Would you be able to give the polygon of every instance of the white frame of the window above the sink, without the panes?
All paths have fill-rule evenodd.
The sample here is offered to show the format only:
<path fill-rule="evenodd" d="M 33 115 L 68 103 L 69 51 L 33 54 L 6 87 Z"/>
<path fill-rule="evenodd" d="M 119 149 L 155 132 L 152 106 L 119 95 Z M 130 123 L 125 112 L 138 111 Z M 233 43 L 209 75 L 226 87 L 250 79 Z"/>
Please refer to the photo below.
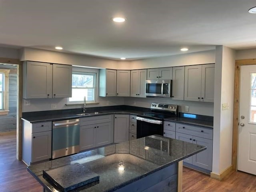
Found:
<path fill-rule="evenodd" d="M 79 66 L 73 66 L 72 67 L 72 74 L 75 73 L 81 73 L 81 74 L 95 74 L 95 90 L 94 90 L 94 101 L 86 101 L 86 104 L 98 104 L 98 74 L 99 70 L 95 68 L 85 68 L 85 67 L 79 67 Z M 67 105 L 73 105 L 73 104 L 83 104 L 83 101 L 69 101 L 69 98 L 67 100 Z"/>

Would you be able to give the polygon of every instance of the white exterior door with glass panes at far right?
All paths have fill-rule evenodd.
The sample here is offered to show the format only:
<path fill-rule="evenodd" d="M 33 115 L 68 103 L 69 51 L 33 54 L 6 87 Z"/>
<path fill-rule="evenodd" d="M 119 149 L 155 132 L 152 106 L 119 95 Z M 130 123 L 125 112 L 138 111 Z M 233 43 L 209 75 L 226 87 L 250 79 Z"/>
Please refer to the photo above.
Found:
<path fill-rule="evenodd" d="M 238 170 L 256 175 L 256 66 L 241 66 Z"/>

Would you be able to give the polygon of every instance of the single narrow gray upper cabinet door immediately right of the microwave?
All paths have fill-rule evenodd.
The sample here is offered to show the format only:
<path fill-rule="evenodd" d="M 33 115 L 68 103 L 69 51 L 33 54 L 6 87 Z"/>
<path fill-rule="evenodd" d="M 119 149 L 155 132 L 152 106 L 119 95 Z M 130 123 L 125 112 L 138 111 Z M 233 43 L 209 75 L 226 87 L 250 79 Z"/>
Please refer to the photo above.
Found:
<path fill-rule="evenodd" d="M 172 68 L 172 99 L 184 100 L 185 67 Z"/>

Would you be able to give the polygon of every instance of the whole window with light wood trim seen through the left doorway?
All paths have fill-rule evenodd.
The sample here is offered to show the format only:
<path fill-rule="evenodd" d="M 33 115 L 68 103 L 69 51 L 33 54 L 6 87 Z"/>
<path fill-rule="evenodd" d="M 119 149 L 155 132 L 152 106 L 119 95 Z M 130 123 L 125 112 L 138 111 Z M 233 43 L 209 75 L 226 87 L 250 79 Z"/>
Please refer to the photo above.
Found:
<path fill-rule="evenodd" d="M 8 114 L 9 72 L 8 69 L 0 69 L 0 115 Z"/>

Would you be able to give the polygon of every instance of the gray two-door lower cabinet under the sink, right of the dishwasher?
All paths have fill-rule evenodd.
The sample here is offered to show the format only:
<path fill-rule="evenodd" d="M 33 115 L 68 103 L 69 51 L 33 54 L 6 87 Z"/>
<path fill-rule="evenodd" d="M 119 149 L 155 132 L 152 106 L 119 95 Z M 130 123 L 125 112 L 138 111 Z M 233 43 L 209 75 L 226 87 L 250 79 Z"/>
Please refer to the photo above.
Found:
<path fill-rule="evenodd" d="M 113 143 L 112 115 L 80 118 L 80 151 L 110 143 Z"/>

